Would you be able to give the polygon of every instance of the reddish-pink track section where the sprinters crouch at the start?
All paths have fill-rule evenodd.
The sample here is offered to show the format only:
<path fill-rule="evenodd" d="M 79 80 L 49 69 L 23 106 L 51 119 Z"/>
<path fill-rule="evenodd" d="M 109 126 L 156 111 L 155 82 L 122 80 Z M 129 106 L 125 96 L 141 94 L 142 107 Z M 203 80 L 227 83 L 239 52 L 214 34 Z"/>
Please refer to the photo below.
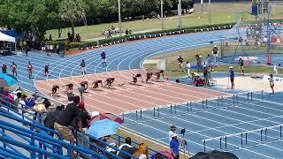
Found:
<path fill-rule="evenodd" d="M 66 103 L 66 95 L 64 95 L 65 84 L 73 83 L 74 94 L 79 95 L 77 87 L 80 81 L 87 80 L 88 84 L 96 79 L 115 78 L 114 87 L 99 88 L 102 91 L 94 91 L 88 89 L 88 93 L 84 94 L 86 108 L 89 111 L 111 112 L 114 114 L 122 114 L 123 112 L 150 109 L 158 106 L 165 106 L 174 103 L 185 103 L 200 101 L 203 99 L 218 98 L 218 96 L 227 95 L 224 93 L 211 91 L 209 89 L 192 87 L 173 83 L 170 81 L 153 82 L 153 84 L 145 84 L 139 80 L 142 86 L 134 86 L 128 84 L 132 80 L 132 72 L 140 72 L 145 79 L 145 72 L 141 70 L 123 71 L 123 72 L 103 72 L 99 74 L 88 75 L 85 78 L 70 77 L 63 79 L 47 79 L 35 81 L 35 86 L 42 92 L 53 98 L 57 102 Z M 120 87 L 119 84 L 125 84 Z M 60 97 L 51 97 L 51 87 L 58 85 L 60 87 Z"/>

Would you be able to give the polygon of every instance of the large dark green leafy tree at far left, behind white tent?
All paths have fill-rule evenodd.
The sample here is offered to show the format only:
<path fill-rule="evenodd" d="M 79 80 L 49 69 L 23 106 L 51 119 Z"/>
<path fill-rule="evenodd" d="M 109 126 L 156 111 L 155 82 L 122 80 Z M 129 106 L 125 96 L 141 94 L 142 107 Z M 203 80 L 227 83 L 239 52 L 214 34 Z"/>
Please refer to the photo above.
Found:
<path fill-rule="evenodd" d="M 27 38 L 42 41 L 57 22 L 59 0 L 4 0 L 0 3 L 0 26 L 26 32 Z M 50 6 L 49 6 L 50 5 Z"/>

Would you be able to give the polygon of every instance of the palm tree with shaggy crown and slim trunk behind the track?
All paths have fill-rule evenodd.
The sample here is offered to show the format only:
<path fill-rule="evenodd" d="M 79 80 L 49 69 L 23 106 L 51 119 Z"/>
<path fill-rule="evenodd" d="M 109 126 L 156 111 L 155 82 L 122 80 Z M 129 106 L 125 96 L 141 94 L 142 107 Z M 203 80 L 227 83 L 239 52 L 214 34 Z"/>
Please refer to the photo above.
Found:
<path fill-rule="evenodd" d="M 74 39 L 74 23 L 85 18 L 86 4 L 82 0 L 63 0 L 59 4 L 59 18 L 72 24 Z"/>

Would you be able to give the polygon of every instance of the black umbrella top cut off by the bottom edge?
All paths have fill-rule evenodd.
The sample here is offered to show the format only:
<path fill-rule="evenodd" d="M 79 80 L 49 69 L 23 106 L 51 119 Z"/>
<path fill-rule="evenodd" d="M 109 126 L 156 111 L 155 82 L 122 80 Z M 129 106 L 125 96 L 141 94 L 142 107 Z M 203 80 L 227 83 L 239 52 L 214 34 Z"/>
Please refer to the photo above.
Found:
<path fill-rule="evenodd" d="M 211 151 L 208 153 L 199 152 L 191 159 L 239 159 L 236 155 L 228 152 Z"/>

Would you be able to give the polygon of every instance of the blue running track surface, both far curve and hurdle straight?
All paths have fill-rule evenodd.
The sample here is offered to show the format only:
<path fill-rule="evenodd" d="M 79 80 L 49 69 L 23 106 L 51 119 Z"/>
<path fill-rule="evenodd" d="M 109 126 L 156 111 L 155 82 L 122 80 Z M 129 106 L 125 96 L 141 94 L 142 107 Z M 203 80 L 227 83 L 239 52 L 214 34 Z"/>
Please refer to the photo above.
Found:
<path fill-rule="evenodd" d="M 87 63 L 88 74 L 140 69 L 142 68 L 142 61 L 147 57 L 210 45 L 210 41 L 219 42 L 220 40 L 218 37 L 220 36 L 234 37 L 235 32 L 233 30 L 226 30 L 203 34 L 186 34 L 164 37 L 152 41 L 125 43 L 113 46 L 111 48 L 105 48 L 108 57 L 108 66 L 106 68 L 102 67 L 101 64 L 99 55 L 101 50 L 91 51 L 86 54 L 65 58 L 46 57 L 42 54 L 31 53 L 28 57 L 0 57 L 0 61 L 2 64 L 5 63 L 7 65 L 10 65 L 13 61 L 16 62 L 16 64 L 19 66 L 19 86 L 34 92 L 37 90 L 37 88 L 34 87 L 34 81 L 46 79 L 43 77 L 44 64 L 50 64 L 50 73 L 52 75 L 50 76 L 50 79 L 64 79 L 70 77 L 75 78 L 76 76 L 80 76 L 81 59 L 85 59 Z M 34 79 L 27 79 L 28 60 L 32 61 L 34 64 Z M 218 135 L 223 135 L 224 133 L 239 133 L 239 131 L 243 130 L 252 130 L 265 125 L 278 125 L 282 123 L 282 117 L 279 117 L 282 115 L 280 114 L 281 111 L 279 108 L 282 105 L 278 103 L 273 103 L 274 105 L 271 103 L 269 104 L 272 107 L 271 109 L 266 107 L 266 103 L 265 105 L 253 104 L 256 107 L 253 107 L 252 109 L 268 109 L 266 112 L 264 112 L 265 110 L 252 110 L 249 108 L 249 104 L 242 104 L 242 106 L 245 106 L 245 109 L 235 107 L 239 110 L 221 109 L 221 111 L 208 111 L 207 113 L 203 114 L 200 113 L 190 115 L 190 118 L 186 116 L 180 116 L 169 119 L 168 117 L 165 117 L 164 119 L 159 118 L 157 120 L 152 120 L 152 118 L 149 117 L 152 117 L 152 111 L 149 110 L 149 114 L 147 114 L 147 111 L 142 112 L 142 119 L 147 119 L 147 117 L 149 117 L 147 123 L 142 123 L 139 124 L 139 126 L 136 126 L 137 124 L 133 124 L 133 122 L 135 122 L 133 119 L 135 117 L 135 113 L 132 113 L 126 115 L 125 127 L 166 144 L 168 127 L 170 125 L 177 125 L 178 128 L 182 128 L 185 125 L 187 129 L 190 129 L 189 134 L 195 134 L 193 138 L 191 138 L 192 136 L 186 135 L 186 139 L 190 141 L 189 149 L 193 153 L 196 153 L 197 151 L 203 150 L 201 142 L 203 139 L 216 137 Z M 184 107 L 177 107 L 176 112 L 183 112 L 184 110 L 179 110 L 181 108 Z M 166 108 L 164 108 L 164 110 L 166 110 Z M 161 116 L 164 116 L 164 114 L 164 111 L 160 112 Z M 149 119 L 151 122 L 149 122 Z M 245 120 L 248 122 L 244 122 Z M 261 122 L 262 120 L 267 123 L 253 123 Z M 237 123 L 239 125 L 242 124 L 242 127 L 235 127 L 234 125 L 237 125 Z M 249 125 L 246 125 L 247 123 Z M 233 131 L 231 131 L 231 126 L 234 128 Z M 200 127 L 203 128 L 203 130 L 197 130 L 197 128 Z M 218 129 L 222 130 L 219 131 Z M 210 132 L 206 132 L 206 130 Z M 212 146 L 209 146 L 208 150 L 211 148 Z M 240 151 L 236 151 L 236 154 L 240 155 L 241 158 L 278 158 L 277 156 L 282 154 L 282 148 L 278 144 L 271 146 L 262 144 L 260 147 L 249 149 L 244 148 Z"/>

